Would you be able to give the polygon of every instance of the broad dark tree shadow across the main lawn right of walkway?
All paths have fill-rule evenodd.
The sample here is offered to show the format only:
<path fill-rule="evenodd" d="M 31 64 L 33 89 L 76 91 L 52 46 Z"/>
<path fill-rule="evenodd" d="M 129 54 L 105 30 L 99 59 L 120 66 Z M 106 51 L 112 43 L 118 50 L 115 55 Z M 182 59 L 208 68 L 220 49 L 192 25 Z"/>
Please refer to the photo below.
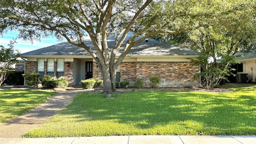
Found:
<path fill-rule="evenodd" d="M 158 131 L 155 134 L 256 134 L 255 97 L 230 95 L 144 91 L 106 99 L 82 93 L 60 114 L 75 114 L 79 122 L 115 120 L 139 130 Z"/>

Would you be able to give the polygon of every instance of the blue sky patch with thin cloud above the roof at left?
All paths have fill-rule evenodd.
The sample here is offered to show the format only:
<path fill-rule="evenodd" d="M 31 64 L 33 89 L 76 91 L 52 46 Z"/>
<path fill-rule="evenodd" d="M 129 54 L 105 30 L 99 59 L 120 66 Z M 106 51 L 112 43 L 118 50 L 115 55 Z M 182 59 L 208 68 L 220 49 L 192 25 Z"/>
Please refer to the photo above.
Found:
<path fill-rule="evenodd" d="M 8 48 L 8 44 L 10 43 L 10 40 L 12 40 L 12 38 L 16 38 L 17 35 L 18 35 L 17 31 L 8 31 L 3 36 L 0 36 L 0 45 L 4 46 L 5 48 Z M 21 54 L 60 43 L 60 41 L 58 41 L 54 37 L 41 38 L 40 42 L 34 41 L 33 44 L 31 44 L 31 42 L 26 42 L 22 39 L 18 39 L 16 40 L 16 42 L 17 43 L 14 44 L 14 49 L 19 50 Z"/>

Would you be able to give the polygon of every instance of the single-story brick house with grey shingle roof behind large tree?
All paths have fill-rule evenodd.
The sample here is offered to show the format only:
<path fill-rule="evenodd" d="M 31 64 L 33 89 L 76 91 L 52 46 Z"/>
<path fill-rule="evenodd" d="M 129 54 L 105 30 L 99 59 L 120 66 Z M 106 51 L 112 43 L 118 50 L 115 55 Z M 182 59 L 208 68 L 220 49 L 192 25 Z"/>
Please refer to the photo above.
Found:
<path fill-rule="evenodd" d="M 89 37 L 86 37 L 84 43 L 94 48 Z M 108 46 L 111 48 L 114 44 L 115 37 L 108 37 Z M 124 44 L 120 52 L 123 49 Z M 199 86 L 200 81 L 194 80 L 194 75 L 200 72 L 200 68 L 188 59 L 198 58 L 198 55 L 193 50 L 148 38 L 133 46 L 124 58 L 118 67 L 116 81 L 127 79 L 130 80 L 130 86 L 134 86 L 136 79 L 143 78 L 144 86 L 148 87 L 149 77 L 159 76 L 160 87 Z M 57 78 L 64 76 L 70 85 L 79 85 L 84 79 L 101 77 L 92 56 L 83 48 L 68 42 L 26 52 L 21 56 L 27 58 L 26 72 L 39 72 L 41 76 L 50 74 Z"/>

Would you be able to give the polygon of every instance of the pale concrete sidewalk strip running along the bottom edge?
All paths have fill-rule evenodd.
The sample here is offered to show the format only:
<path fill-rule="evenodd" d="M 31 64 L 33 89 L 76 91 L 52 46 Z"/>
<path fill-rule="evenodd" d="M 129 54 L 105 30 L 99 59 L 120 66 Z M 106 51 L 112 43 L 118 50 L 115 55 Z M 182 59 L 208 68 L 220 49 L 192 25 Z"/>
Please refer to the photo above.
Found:
<path fill-rule="evenodd" d="M 256 144 L 256 136 L 99 136 L 0 138 L 0 144 Z"/>

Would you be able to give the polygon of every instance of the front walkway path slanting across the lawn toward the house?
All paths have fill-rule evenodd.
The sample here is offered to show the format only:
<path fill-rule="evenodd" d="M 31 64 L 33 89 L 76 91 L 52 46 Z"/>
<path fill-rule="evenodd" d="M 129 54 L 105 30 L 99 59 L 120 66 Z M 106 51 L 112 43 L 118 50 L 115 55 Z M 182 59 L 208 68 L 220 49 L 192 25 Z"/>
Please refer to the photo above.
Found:
<path fill-rule="evenodd" d="M 72 102 L 79 90 L 66 90 L 51 96 L 36 108 L 18 116 L 8 123 L 0 124 L 0 138 L 21 138 L 26 132 L 38 128 L 46 120 L 57 114 L 62 108 Z"/>

